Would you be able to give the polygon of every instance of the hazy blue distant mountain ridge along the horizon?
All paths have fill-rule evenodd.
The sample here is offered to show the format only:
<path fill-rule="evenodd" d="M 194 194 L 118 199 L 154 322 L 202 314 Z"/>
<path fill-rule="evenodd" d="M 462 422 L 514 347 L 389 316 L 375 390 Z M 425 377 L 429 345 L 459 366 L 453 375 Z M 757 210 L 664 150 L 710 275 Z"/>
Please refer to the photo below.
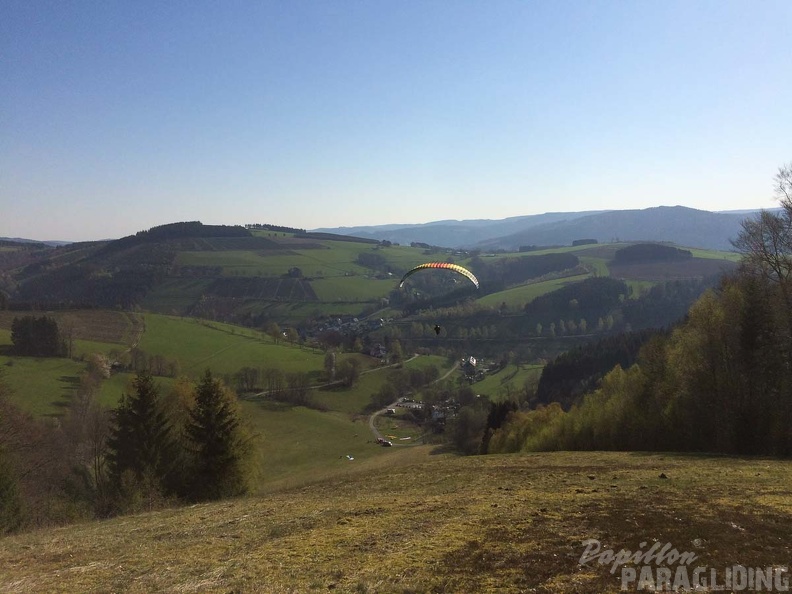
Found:
<path fill-rule="evenodd" d="M 685 206 L 635 210 L 546 213 L 502 220 L 433 221 L 418 225 L 382 225 L 321 229 L 380 241 L 428 243 L 449 248 L 517 250 L 521 246 L 571 245 L 597 241 L 666 241 L 686 247 L 730 250 L 742 221 L 754 211 L 711 212 Z"/>

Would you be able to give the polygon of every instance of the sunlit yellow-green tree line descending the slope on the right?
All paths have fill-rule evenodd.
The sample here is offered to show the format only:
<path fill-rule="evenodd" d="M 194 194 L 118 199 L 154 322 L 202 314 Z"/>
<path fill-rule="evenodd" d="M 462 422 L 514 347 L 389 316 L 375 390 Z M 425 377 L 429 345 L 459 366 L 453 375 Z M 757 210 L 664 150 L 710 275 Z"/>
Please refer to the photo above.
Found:
<path fill-rule="evenodd" d="M 738 271 L 704 293 L 637 362 L 617 365 L 569 411 L 515 411 L 489 452 L 671 450 L 792 455 L 792 164 L 781 209 L 743 222 Z"/>

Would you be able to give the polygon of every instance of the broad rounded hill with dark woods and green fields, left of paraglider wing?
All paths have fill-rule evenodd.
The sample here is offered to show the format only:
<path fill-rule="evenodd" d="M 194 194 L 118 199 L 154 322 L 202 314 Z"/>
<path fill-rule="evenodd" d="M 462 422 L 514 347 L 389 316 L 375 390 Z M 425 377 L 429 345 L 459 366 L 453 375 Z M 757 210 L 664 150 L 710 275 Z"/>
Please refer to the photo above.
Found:
<path fill-rule="evenodd" d="M 248 325 L 359 315 L 424 258 L 383 247 L 382 266 L 361 263 L 377 250 L 372 240 L 200 223 L 57 248 L 11 244 L 0 251 L 0 298 L 18 309 L 140 307 Z"/>

